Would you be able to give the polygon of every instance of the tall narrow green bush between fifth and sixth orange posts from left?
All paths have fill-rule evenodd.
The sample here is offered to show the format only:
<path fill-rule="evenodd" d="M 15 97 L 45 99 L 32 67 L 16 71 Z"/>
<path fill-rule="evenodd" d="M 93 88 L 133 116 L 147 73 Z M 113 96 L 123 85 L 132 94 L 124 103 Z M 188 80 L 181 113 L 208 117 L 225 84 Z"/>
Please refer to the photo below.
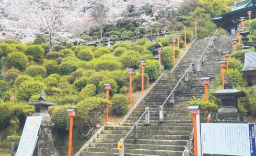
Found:
<path fill-rule="evenodd" d="M 173 48 L 172 47 L 162 48 L 161 59 L 162 59 L 162 63 L 164 64 L 165 68 L 171 69 L 174 66 Z"/>

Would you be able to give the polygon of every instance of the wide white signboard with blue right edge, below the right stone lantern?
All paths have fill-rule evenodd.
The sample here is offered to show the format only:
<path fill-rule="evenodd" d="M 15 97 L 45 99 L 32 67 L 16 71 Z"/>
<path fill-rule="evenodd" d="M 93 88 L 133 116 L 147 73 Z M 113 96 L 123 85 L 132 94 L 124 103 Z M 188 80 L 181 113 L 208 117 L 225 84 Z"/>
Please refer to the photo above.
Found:
<path fill-rule="evenodd" d="M 202 123 L 203 154 L 256 155 L 255 125 Z"/>

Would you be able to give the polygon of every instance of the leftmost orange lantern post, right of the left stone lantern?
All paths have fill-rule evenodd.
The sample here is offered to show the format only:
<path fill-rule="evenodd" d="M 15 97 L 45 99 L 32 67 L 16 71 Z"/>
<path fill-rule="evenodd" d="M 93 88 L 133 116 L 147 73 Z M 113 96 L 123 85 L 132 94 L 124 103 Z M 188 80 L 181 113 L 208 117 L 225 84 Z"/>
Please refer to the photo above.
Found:
<path fill-rule="evenodd" d="M 76 109 L 69 108 L 67 110 L 68 116 L 70 117 L 69 121 L 69 137 L 68 137 L 68 152 L 67 155 L 71 156 L 72 151 L 72 133 L 73 133 L 73 117 L 76 116 Z"/>

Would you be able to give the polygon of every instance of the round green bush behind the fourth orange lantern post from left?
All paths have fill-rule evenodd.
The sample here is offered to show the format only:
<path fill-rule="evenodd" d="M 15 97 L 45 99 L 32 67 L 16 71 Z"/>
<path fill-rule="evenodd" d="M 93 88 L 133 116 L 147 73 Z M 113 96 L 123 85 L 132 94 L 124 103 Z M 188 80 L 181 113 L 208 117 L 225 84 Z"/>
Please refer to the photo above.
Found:
<path fill-rule="evenodd" d="M 134 91 L 142 89 L 142 74 L 141 73 L 136 73 L 136 75 L 133 76 L 132 85 L 133 85 Z M 148 85 L 149 85 L 149 77 L 147 74 L 144 74 L 144 89 L 146 89 Z"/>

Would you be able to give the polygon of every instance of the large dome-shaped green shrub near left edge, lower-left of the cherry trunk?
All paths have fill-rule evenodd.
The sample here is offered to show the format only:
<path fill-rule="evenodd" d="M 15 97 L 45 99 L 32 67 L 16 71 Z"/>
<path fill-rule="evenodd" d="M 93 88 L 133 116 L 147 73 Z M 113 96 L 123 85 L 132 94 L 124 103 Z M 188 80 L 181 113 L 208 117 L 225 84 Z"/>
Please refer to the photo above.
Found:
<path fill-rule="evenodd" d="M 25 70 L 28 66 L 28 58 L 24 53 L 16 51 L 8 55 L 6 64 L 8 68 L 15 67 L 18 70 Z"/>

